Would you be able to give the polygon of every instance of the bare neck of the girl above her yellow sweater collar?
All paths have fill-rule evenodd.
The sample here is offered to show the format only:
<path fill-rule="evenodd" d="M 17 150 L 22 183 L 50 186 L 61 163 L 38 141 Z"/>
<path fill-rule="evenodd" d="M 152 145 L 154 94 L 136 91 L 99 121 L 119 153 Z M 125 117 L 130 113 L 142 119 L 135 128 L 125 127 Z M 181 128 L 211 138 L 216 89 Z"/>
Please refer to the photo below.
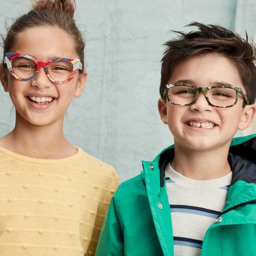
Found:
<path fill-rule="evenodd" d="M 20 155 L 41 159 L 61 159 L 76 154 L 77 149 L 64 137 L 62 125 L 25 126 L 16 123 L 14 130 L 0 139 L 0 146 Z"/>

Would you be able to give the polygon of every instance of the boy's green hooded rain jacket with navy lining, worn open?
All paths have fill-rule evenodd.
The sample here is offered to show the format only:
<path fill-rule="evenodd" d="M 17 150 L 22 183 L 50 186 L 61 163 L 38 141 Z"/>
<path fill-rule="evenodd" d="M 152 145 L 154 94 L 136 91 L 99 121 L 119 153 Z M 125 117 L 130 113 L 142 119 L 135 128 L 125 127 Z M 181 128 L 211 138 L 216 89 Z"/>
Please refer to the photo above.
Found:
<path fill-rule="evenodd" d="M 121 183 L 102 226 L 96 256 L 173 256 L 164 179 L 173 156 L 170 146 L 153 161 L 142 161 L 139 176 Z M 227 201 L 205 234 L 201 255 L 255 256 L 256 134 L 233 139 L 228 161 L 233 178 Z"/>

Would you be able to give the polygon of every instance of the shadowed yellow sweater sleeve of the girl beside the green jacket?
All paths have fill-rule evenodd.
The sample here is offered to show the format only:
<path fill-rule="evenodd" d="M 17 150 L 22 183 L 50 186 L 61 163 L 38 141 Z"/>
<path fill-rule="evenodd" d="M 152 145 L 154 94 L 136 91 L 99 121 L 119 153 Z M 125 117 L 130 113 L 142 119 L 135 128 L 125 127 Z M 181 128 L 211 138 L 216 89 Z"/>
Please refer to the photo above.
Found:
<path fill-rule="evenodd" d="M 118 187 L 118 175 L 112 166 L 107 166 L 105 175 L 101 180 L 101 194 L 98 201 L 97 215 L 95 226 L 92 233 L 92 239 L 85 255 L 94 255 L 101 227 L 109 208 L 111 198 Z"/>

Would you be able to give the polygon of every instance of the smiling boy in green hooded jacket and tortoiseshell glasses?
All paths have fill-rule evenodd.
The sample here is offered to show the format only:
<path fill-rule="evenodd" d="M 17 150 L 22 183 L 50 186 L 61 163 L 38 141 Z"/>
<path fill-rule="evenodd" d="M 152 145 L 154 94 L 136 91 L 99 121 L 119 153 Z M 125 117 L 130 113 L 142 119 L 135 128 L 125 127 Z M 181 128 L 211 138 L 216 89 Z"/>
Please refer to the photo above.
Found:
<path fill-rule="evenodd" d="M 158 110 L 174 146 L 120 185 L 96 256 L 256 255 L 256 135 L 231 142 L 255 115 L 255 48 L 189 26 L 162 59 Z"/>

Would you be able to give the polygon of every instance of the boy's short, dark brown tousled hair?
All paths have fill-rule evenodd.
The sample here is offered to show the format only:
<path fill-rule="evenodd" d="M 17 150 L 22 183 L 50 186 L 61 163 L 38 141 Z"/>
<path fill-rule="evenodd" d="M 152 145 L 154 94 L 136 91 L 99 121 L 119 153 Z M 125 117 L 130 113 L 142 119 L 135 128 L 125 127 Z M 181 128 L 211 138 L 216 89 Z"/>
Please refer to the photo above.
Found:
<path fill-rule="evenodd" d="M 217 25 L 205 25 L 193 22 L 187 26 L 197 26 L 198 31 L 180 34 L 178 39 L 164 43 L 165 51 L 162 58 L 160 95 L 163 98 L 164 87 L 172 76 L 175 65 L 193 56 L 218 53 L 226 57 L 237 68 L 250 104 L 256 98 L 256 49 L 254 44 L 242 39 L 237 33 Z M 236 86 L 236 85 L 234 85 Z"/>

